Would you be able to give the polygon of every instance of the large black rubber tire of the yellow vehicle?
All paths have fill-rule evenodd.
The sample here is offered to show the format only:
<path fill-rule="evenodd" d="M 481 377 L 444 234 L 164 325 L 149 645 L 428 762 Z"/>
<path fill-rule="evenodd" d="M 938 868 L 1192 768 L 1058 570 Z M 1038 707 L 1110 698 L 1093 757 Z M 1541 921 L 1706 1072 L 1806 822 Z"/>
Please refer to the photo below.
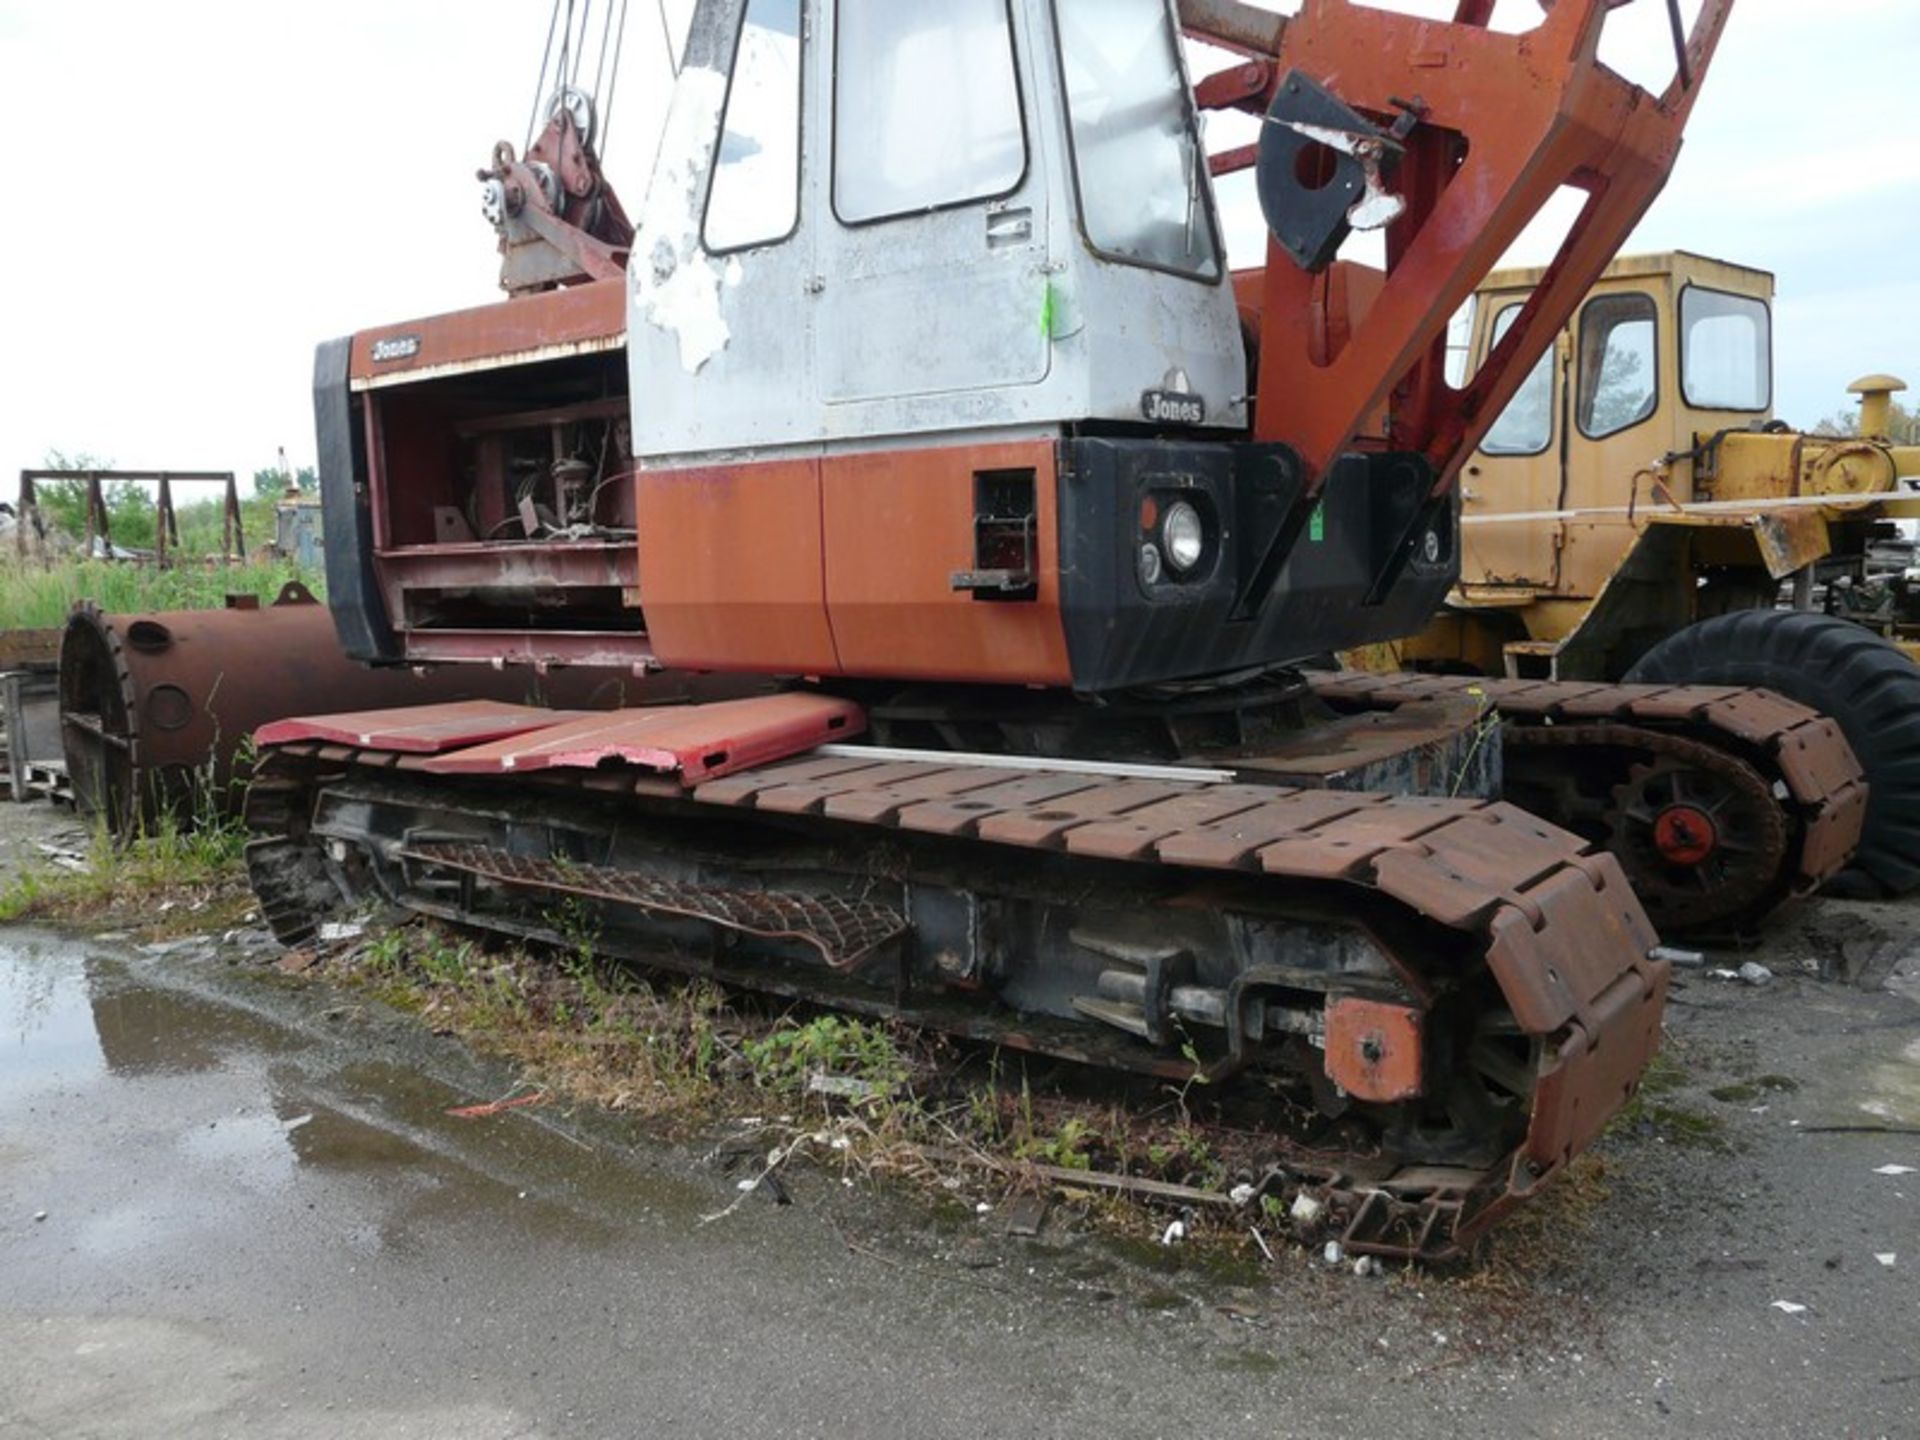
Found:
<path fill-rule="evenodd" d="M 1870 630 L 1805 611 L 1740 611 L 1674 632 L 1624 676 L 1759 685 L 1832 716 L 1866 772 L 1866 829 L 1830 889 L 1920 889 L 1920 666 Z"/>

